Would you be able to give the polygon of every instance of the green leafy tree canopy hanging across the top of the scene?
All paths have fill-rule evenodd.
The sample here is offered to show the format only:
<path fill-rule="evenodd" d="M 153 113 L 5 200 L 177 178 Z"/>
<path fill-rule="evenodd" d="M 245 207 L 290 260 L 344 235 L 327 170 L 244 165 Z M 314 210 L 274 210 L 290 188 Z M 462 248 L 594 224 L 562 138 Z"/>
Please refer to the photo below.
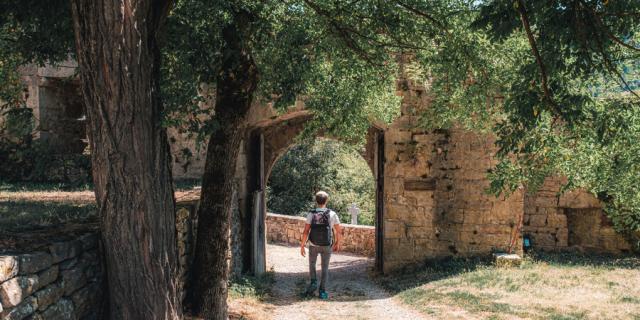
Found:
<path fill-rule="evenodd" d="M 166 124 L 201 138 L 224 127 L 203 84 L 219 74 L 222 30 L 238 23 L 259 74 L 256 99 L 303 100 L 319 130 L 349 142 L 398 113 L 398 67 L 430 88 L 425 127 L 492 130 L 491 191 L 568 178 L 640 232 L 637 0 L 175 1 L 161 70 Z M 0 99 L 21 107 L 17 66 L 72 51 L 69 2 L 0 4 Z M 398 61 L 406 62 L 399 66 Z"/>

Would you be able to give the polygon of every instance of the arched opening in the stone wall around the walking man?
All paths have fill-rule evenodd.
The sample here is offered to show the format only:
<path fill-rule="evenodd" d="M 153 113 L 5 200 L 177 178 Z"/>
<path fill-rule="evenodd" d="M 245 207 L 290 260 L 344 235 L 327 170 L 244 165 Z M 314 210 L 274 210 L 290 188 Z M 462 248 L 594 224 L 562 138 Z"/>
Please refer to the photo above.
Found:
<path fill-rule="evenodd" d="M 366 277 L 375 260 L 376 180 L 362 154 L 363 147 L 316 138 L 292 144 L 268 168 L 265 259 L 280 284 L 273 289 L 275 296 L 297 296 L 308 289 L 312 257 L 313 278 L 333 297 L 347 297 L 355 285 L 366 282 L 360 277 Z M 327 207 L 339 217 L 341 248 L 327 256 L 313 255 L 308 246 L 303 257 L 300 239 L 320 190 L 329 194 Z M 326 258 L 329 274 L 323 283 Z"/>

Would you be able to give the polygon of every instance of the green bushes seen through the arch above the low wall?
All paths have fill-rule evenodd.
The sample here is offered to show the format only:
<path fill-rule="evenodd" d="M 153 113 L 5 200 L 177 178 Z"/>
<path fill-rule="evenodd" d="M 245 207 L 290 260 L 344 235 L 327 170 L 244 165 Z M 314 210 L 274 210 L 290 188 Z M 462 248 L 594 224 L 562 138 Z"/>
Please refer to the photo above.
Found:
<path fill-rule="evenodd" d="M 333 140 L 303 142 L 276 162 L 268 182 L 270 212 L 306 215 L 315 207 L 314 194 L 329 193 L 329 207 L 349 223 L 347 209 L 355 203 L 358 222 L 375 223 L 375 181 L 371 169 L 353 147 Z"/>

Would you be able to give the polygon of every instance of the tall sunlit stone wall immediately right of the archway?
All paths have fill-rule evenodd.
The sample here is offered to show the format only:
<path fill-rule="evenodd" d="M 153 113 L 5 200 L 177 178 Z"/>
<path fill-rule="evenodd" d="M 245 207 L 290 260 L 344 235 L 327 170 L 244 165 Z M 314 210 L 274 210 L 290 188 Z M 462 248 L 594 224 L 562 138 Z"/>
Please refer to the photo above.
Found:
<path fill-rule="evenodd" d="M 410 82 L 399 87 L 401 116 L 385 131 L 384 271 L 506 250 L 523 214 L 523 195 L 486 193 L 486 174 L 495 164 L 493 137 L 420 129 L 417 115 L 430 98 Z"/>

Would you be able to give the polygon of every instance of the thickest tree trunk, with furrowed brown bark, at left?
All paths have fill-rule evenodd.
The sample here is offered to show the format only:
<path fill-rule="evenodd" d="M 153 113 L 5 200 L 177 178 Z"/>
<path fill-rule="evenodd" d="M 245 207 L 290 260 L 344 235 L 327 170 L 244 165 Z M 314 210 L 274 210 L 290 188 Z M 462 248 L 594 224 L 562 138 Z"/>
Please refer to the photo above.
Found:
<path fill-rule="evenodd" d="M 71 0 L 111 319 L 179 319 L 157 30 L 169 0 Z"/>

